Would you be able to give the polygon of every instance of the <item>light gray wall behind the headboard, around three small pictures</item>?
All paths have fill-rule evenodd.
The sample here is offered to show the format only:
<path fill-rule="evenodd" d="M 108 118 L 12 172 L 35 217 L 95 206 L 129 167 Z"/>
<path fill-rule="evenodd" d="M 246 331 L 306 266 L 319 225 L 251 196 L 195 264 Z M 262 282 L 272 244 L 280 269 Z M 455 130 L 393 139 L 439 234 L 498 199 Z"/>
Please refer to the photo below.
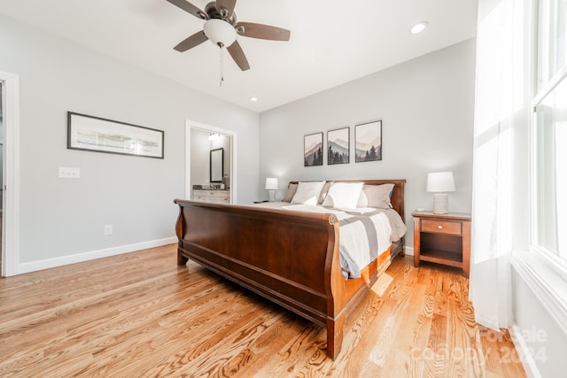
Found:
<path fill-rule="evenodd" d="M 470 212 L 475 40 L 438 50 L 260 114 L 260 193 L 278 177 L 282 198 L 292 180 L 406 179 L 406 245 L 411 212 L 432 208 L 427 174 L 453 171 L 452 212 Z M 354 125 L 382 120 L 382 161 L 354 163 Z M 303 166 L 303 137 L 351 127 L 351 163 Z M 411 251 L 409 251 L 411 252 Z"/>

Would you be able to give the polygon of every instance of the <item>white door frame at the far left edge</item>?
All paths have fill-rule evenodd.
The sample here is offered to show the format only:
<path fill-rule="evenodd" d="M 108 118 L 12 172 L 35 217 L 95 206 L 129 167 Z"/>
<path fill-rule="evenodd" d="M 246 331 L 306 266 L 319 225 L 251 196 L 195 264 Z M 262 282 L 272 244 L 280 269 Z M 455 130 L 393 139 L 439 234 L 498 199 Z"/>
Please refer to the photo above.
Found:
<path fill-rule="evenodd" d="M 0 71 L 4 111 L 2 272 L 19 274 L 19 76 Z"/>

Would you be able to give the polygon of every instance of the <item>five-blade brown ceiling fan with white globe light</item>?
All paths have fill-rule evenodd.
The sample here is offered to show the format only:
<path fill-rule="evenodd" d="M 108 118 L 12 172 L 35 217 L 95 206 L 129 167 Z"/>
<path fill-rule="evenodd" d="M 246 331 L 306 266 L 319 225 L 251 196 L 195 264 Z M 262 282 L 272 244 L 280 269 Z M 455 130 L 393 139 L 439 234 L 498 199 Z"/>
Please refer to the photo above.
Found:
<path fill-rule="evenodd" d="M 206 4 L 205 11 L 185 0 L 167 0 L 169 3 L 183 9 L 198 19 L 204 19 L 203 30 L 190 35 L 179 42 L 174 49 L 180 52 L 192 49 L 195 46 L 210 40 L 221 49 L 226 47 L 230 56 L 242 71 L 250 69 L 245 53 L 237 41 L 237 35 L 251 38 L 260 38 L 270 41 L 289 41 L 290 31 L 269 25 L 252 22 L 237 22 L 234 7 L 237 0 L 216 0 Z"/>

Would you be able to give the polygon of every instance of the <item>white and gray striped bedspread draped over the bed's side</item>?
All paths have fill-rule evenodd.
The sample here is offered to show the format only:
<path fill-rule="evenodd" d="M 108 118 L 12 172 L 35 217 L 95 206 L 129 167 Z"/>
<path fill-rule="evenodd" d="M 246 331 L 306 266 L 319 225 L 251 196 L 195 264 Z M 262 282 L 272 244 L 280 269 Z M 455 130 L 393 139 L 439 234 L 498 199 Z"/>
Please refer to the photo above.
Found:
<path fill-rule="evenodd" d="M 400 215 L 393 209 L 334 209 L 315 204 L 268 202 L 262 207 L 295 212 L 333 213 L 338 218 L 340 262 L 345 278 L 359 278 L 361 269 L 384 253 L 406 233 Z"/>

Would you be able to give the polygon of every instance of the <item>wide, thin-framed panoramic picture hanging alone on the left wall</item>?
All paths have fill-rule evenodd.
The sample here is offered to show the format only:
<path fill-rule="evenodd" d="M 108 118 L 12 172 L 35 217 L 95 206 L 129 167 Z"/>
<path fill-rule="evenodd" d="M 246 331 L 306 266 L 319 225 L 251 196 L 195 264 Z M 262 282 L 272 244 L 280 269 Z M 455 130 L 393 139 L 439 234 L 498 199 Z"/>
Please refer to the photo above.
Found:
<path fill-rule="evenodd" d="M 67 112 L 67 149 L 163 158 L 164 132 Z"/>

